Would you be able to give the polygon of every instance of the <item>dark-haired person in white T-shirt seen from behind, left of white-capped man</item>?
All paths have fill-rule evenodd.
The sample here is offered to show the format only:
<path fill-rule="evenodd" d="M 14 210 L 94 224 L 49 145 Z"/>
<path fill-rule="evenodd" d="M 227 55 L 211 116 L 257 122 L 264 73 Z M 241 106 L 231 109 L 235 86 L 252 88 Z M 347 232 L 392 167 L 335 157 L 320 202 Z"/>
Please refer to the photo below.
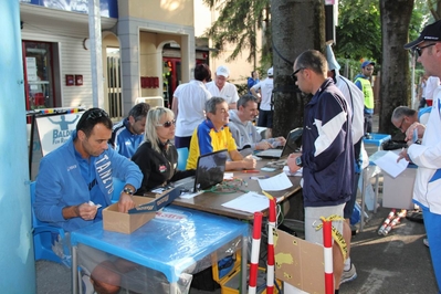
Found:
<path fill-rule="evenodd" d="M 211 98 L 206 83 L 211 80 L 211 71 L 207 64 L 197 64 L 195 80 L 179 85 L 174 93 L 171 109 L 176 117 L 176 148 L 189 148 L 191 134 L 206 119 L 203 107 Z"/>

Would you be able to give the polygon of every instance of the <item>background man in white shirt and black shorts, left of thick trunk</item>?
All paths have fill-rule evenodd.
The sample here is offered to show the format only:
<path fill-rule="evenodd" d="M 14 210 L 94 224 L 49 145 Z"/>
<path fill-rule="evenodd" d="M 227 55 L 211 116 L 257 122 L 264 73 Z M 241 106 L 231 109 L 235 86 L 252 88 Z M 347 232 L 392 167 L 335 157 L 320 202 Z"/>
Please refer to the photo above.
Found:
<path fill-rule="evenodd" d="M 273 94 L 274 80 L 273 80 L 273 67 L 267 70 L 267 77 L 259 84 L 251 87 L 250 92 L 261 103 L 259 112 L 258 126 L 266 127 L 266 138 L 271 138 L 273 133 L 273 109 L 271 105 L 271 96 Z M 260 90 L 260 94 L 258 91 Z"/>

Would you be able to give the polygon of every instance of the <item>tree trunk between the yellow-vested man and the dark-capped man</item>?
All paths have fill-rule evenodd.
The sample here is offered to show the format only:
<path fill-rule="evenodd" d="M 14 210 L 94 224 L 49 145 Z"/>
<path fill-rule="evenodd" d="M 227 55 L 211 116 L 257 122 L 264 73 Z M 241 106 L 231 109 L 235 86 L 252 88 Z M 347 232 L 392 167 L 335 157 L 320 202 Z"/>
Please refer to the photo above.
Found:
<path fill-rule="evenodd" d="M 379 133 L 395 134 L 390 123 L 393 109 L 410 106 L 411 82 L 409 75 L 409 51 L 402 46 L 408 42 L 408 30 L 413 0 L 380 0 L 381 15 L 381 76 Z"/>

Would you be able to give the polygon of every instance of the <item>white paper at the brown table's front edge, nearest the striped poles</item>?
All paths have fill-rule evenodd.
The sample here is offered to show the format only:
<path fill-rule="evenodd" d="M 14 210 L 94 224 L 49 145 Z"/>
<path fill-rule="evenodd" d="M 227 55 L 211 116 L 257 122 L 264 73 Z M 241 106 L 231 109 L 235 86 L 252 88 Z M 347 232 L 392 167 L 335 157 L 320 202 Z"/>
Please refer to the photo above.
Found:
<path fill-rule="evenodd" d="M 277 202 L 279 201 L 280 199 L 277 199 Z M 263 195 L 251 191 L 223 203 L 222 207 L 254 213 L 267 209 L 270 207 L 270 199 Z"/>

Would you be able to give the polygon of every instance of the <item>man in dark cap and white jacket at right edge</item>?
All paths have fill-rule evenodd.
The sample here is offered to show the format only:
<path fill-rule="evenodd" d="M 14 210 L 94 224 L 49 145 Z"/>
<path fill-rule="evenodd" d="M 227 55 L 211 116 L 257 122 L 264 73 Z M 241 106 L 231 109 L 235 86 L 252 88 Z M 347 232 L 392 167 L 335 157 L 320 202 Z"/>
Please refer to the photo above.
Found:
<path fill-rule="evenodd" d="M 405 45 L 418 54 L 417 61 L 428 76 L 441 77 L 441 21 L 426 25 L 419 38 Z M 413 186 L 413 202 L 422 210 L 430 255 L 438 290 L 441 291 L 441 93 L 435 92 L 429 120 L 424 126 L 413 123 L 407 132 L 409 148 L 397 161 L 406 158 L 418 166 Z M 413 130 L 418 138 L 414 140 Z M 420 141 L 420 138 L 422 140 Z"/>

